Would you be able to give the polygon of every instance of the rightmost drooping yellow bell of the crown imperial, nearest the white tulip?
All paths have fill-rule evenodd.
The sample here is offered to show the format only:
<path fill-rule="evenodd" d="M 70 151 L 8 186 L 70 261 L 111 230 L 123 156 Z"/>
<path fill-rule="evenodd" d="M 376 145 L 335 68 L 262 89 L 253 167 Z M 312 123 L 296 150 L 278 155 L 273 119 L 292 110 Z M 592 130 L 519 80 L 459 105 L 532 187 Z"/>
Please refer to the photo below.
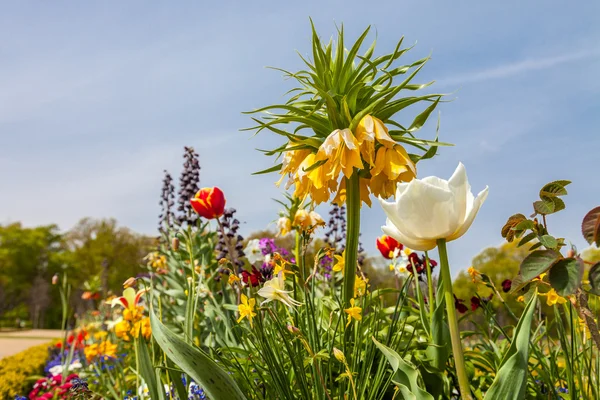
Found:
<path fill-rule="evenodd" d="M 388 198 L 395 195 L 399 182 L 409 182 L 416 176 L 415 164 L 404 147 L 399 144 L 392 148 L 381 146 L 371 169 L 371 192 L 377 197 Z"/>

